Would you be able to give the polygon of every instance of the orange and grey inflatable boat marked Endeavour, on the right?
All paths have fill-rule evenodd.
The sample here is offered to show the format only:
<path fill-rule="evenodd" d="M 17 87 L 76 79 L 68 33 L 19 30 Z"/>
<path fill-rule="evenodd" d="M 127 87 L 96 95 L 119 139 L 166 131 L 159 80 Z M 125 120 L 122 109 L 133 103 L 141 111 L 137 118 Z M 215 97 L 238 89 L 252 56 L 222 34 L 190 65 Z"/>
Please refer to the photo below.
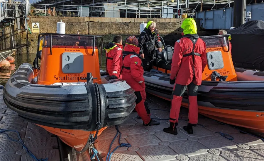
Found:
<path fill-rule="evenodd" d="M 264 72 L 234 68 L 228 35 L 200 38 L 207 45 L 208 64 L 198 89 L 199 113 L 264 132 Z M 165 46 L 164 51 L 155 53 L 155 69 L 144 72 L 146 91 L 169 101 L 173 91 L 173 85 L 169 83 L 172 54 L 172 46 Z M 222 76 L 227 76 L 225 81 L 220 81 Z M 182 106 L 188 108 L 187 91 Z"/>

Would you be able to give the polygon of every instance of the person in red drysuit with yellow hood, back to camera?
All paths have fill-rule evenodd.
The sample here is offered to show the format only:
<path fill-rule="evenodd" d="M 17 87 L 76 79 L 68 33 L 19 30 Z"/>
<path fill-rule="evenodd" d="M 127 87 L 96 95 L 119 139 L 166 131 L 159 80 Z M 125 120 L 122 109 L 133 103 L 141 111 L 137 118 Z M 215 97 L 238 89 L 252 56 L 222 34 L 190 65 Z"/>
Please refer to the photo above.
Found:
<path fill-rule="evenodd" d="M 207 64 L 206 44 L 197 35 L 197 27 L 193 18 L 185 19 L 181 27 L 184 36 L 175 42 L 170 71 L 170 84 L 175 84 L 170 109 L 170 127 L 163 129 L 175 135 L 182 97 L 187 88 L 189 123 L 183 129 L 193 134 L 192 126 L 198 123 L 197 91 L 198 86 L 202 84 L 202 72 Z"/>

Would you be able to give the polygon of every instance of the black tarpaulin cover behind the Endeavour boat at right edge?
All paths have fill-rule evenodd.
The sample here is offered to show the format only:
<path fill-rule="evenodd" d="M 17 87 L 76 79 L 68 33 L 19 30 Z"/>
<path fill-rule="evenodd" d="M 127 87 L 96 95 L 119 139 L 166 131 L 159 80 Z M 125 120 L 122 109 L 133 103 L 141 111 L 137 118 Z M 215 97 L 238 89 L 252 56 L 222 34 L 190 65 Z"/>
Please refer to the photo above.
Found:
<path fill-rule="evenodd" d="M 235 67 L 264 70 L 264 21 L 248 21 L 232 30 L 232 60 Z"/>

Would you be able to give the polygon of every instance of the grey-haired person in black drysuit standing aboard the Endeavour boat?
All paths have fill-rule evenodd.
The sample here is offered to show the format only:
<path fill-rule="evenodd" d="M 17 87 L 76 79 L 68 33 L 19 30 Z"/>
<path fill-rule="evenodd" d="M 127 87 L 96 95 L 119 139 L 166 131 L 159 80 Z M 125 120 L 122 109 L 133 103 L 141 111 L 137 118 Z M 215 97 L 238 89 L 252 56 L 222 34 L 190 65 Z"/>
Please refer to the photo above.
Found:
<path fill-rule="evenodd" d="M 159 43 L 156 34 L 153 34 L 156 23 L 149 21 L 145 29 L 141 32 L 138 38 L 139 54 L 142 58 L 143 69 L 150 72 L 153 67 L 153 54 L 155 52 L 155 45 L 158 51 L 162 51 L 162 45 Z"/>

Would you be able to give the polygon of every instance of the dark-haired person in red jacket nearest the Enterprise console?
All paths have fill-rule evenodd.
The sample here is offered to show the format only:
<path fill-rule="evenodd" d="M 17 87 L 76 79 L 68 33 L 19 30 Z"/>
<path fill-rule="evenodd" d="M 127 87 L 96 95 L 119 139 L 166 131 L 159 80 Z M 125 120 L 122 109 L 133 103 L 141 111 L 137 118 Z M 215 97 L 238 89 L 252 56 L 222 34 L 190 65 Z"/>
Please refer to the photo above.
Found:
<path fill-rule="evenodd" d="M 120 59 L 122 58 L 122 36 L 117 35 L 114 37 L 113 42 L 110 42 L 107 47 L 104 48 L 106 51 L 106 72 L 103 75 L 109 75 L 109 79 L 121 79 L 120 75 Z"/>

